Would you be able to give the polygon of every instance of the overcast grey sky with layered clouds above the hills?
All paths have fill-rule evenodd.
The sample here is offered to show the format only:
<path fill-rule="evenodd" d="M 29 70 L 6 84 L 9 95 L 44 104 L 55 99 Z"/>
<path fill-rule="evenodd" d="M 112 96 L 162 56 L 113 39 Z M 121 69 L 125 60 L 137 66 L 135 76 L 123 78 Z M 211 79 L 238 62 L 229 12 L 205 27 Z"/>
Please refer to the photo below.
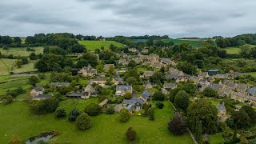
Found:
<path fill-rule="evenodd" d="M 255 0 L 0 0 L 0 35 L 170 38 L 256 33 Z"/>

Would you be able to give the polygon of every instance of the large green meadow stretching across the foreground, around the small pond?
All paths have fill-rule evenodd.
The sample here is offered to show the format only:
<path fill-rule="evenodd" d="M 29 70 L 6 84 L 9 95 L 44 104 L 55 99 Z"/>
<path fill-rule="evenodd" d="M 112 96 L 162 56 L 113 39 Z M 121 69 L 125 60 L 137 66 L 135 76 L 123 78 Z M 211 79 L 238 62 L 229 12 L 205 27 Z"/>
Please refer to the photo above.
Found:
<path fill-rule="evenodd" d="M 65 110 L 83 107 L 97 98 L 89 100 L 66 100 L 60 105 Z M 155 110 L 155 121 L 141 116 L 132 116 L 128 122 L 118 121 L 118 114 L 100 114 L 92 117 L 93 126 L 86 131 L 77 130 L 74 123 L 67 118 L 56 119 L 54 114 L 41 116 L 31 115 L 26 102 L 13 102 L 10 105 L 0 104 L 0 142 L 7 143 L 12 135 L 18 135 L 22 140 L 37 135 L 43 131 L 57 130 L 59 135 L 49 143 L 127 143 L 125 138 L 129 126 L 137 131 L 136 143 L 193 143 L 189 134 L 174 136 L 166 129 L 173 109 L 165 102 L 163 110 Z M 6 136 L 5 136 L 6 134 Z"/>

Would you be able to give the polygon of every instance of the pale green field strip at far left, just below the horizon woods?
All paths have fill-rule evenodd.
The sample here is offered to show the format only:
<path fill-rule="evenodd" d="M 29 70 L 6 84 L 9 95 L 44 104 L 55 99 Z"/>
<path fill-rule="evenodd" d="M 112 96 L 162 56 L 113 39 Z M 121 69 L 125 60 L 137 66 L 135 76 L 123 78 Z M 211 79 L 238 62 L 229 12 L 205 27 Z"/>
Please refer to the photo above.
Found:
<path fill-rule="evenodd" d="M 35 54 L 42 54 L 43 53 L 43 48 L 42 46 L 39 46 L 39 47 L 32 47 L 35 51 L 26 51 L 26 47 L 18 47 L 18 48 L 13 48 L 13 47 L 10 47 L 10 50 L 3 50 L 3 48 L 0 48 L 0 52 L 2 54 L 6 54 L 6 55 L 9 55 L 9 54 L 14 54 L 14 56 L 18 56 L 18 55 L 21 55 L 21 56 L 24 56 L 24 57 L 29 57 L 31 53 L 35 53 Z"/>

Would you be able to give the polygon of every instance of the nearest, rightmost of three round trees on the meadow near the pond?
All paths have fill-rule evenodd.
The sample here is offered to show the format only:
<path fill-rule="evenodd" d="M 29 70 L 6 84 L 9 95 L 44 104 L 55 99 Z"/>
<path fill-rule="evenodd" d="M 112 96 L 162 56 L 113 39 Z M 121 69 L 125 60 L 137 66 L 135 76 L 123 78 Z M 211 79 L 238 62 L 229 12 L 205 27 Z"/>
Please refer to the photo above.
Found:
<path fill-rule="evenodd" d="M 78 127 L 79 130 L 89 129 L 92 126 L 90 116 L 86 113 L 80 114 L 75 121 L 75 125 Z"/>

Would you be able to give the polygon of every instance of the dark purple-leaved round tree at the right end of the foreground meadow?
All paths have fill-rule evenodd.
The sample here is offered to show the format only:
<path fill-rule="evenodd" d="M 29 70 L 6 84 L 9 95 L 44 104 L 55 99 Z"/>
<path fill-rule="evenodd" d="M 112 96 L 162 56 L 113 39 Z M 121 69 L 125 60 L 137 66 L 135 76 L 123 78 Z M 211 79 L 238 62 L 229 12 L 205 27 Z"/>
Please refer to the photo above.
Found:
<path fill-rule="evenodd" d="M 186 123 L 181 116 L 175 115 L 168 123 L 168 130 L 176 135 L 184 134 L 186 132 Z"/>

